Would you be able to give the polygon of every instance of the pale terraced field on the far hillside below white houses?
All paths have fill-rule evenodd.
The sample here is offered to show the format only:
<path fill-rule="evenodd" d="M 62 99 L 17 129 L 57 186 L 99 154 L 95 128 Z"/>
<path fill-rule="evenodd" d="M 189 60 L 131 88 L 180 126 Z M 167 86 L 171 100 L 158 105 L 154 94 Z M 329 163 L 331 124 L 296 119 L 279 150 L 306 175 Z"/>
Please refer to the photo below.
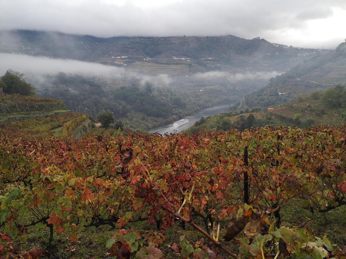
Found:
<path fill-rule="evenodd" d="M 179 75 L 187 73 L 189 68 L 187 65 L 161 65 L 146 62 L 136 62 L 128 66 L 128 69 L 133 72 L 147 74 L 169 74 Z"/>

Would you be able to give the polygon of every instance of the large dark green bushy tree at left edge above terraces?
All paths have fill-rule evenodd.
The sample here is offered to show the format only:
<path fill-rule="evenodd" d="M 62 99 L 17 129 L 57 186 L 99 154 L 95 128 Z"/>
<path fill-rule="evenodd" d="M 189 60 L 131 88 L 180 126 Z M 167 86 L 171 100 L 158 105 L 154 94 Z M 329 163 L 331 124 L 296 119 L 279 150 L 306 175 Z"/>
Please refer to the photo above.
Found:
<path fill-rule="evenodd" d="M 11 69 L 0 78 L 6 85 L 3 89 L 7 94 L 35 95 L 36 89 L 24 80 L 24 74 Z"/>

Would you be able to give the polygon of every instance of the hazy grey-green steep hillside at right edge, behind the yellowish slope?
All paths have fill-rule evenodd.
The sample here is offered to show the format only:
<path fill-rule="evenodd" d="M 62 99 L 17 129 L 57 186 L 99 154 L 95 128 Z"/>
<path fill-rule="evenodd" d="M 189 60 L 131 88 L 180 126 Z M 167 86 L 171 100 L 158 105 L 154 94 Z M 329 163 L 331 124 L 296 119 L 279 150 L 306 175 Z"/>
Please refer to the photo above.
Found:
<path fill-rule="evenodd" d="M 268 107 L 293 100 L 297 94 L 324 90 L 346 83 L 346 42 L 327 54 L 313 57 L 276 76 L 270 83 L 245 96 L 248 107 Z"/>

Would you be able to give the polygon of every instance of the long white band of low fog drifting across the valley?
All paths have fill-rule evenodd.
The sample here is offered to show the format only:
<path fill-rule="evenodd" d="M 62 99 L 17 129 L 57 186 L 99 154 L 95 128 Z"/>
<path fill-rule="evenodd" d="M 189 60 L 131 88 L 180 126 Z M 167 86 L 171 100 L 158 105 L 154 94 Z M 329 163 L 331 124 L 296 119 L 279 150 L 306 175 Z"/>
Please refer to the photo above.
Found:
<path fill-rule="evenodd" d="M 104 78 L 119 79 L 122 81 L 136 79 L 136 81 L 142 85 L 149 82 L 157 86 L 173 86 L 175 82 L 175 78 L 167 74 L 140 74 L 131 72 L 126 68 L 83 62 L 79 60 L 52 59 L 11 53 L 0 53 L 0 60 L 0 75 L 3 75 L 8 69 L 19 71 L 20 73 L 24 73 L 27 80 L 36 87 L 44 84 L 45 80 L 48 78 L 47 76 L 54 76 L 59 72 L 78 74 L 84 77 L 95 77 L 100 75 Z M 276 71 L 243 74 L 230 74 L 225 71 L 209 71 L 206 73 L 195 73 L 186 78 L 180 78 L 179 81 L 205 81 L 208 83 L 208 81 L 211 80 L 226 80 L 230 83 L 239 83 L 239 81 L 246 80 L 261 80 L 260 85 L 254 85 L 254 89 L 257 89 L 258 87 L 266 85 L 268 79 L 275 77 L 278 74 L 279 73 Z"/>

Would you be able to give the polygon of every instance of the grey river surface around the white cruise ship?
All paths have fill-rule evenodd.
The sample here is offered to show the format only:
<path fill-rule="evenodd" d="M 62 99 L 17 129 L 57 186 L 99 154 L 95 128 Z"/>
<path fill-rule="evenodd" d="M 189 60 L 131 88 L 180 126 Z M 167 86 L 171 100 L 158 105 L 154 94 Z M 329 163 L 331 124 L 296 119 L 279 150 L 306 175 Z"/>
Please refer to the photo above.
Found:
<path fill-rule="evenodd" d="M 219 106 L 214 106 L 214 107 L 210 107 L 210 108 L 206 108 L 202 111 L 197 112 L 194 115 L 190 115 L 190 116 L 186 116 L 184 118 L 180 118 L 180 119 L 188 119 L 189 123 L 186 123 L 180 127 L 173 127 L 173 123 L 158 127 L 158 128 L 152 128 L 151 130 L 149 130 L 149 133 L 155 133 L 158 132 L 160 134 L 165 134 L 165 133 L 174 133 L 174 132 L 181 132 L 183 130 L 187 130 L 189 127 L 191 127 L 195 122 L 199 121 L 200 118 L 202 117 L 207 117 L 207 116 L 213 116 L 215 114 L 219 114 L 222 112 L 227 111 L 229 108 L 229 105 L 219 105 Z"/>

